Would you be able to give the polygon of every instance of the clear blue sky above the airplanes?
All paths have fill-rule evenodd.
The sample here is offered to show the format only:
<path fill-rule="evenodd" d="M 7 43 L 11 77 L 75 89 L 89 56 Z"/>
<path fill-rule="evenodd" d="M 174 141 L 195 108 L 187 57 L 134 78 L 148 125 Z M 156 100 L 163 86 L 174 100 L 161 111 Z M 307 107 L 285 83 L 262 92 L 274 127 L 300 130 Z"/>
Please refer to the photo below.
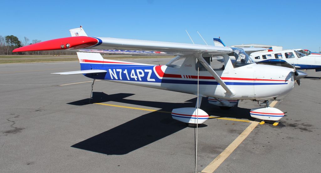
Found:
<path fill-rule="evenodd" d="M 321 1 L 3 1 L 0 35 L 31 40 L 88 36 L 209 45 L 220 36 L 236 44 L 319 51 Z"/>

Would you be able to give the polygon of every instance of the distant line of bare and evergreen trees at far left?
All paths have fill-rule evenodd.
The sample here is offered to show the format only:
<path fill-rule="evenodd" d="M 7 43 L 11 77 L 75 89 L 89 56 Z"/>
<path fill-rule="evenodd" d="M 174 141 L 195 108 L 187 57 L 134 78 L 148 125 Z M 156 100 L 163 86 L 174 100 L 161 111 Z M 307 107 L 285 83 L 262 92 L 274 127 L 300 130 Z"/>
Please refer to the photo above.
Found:
<path fill-rule="evenodd" d="M 12 52 L 14 49 L 39 43 L 41 40 L 32 40 L 30 42 L 29 38 L 23 37 L 23 40 L 19 40 L 18 37 L 14 35 L 0 35 L 0 55 L 75 55 L 74 51 L 28 51 L 28 52 Z"/>

